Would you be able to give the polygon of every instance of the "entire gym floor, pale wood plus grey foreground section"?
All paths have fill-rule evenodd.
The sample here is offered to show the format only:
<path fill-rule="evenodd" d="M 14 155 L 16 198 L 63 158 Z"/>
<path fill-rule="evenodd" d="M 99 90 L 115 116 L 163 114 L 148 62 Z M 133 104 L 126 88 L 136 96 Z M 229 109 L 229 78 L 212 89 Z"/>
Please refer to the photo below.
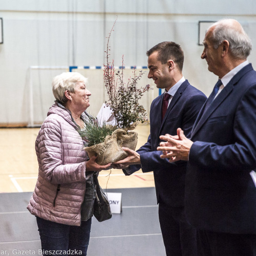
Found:
<path fill-rule="evenodd" d="M 34 142 L 38 128 L 0 129 L 0 253 L 27 251 L 41 255 L 36 219 L 26 209 L 37 178 Z M 139 125 L 138 145 L 143 145 L 149 125 Z M 108 192 L 122 193 L 122 212 L 99 223 L 93 218 L 89 256 L 165 255 L 158 221 L 153 173 L 124 176 L 121 170 L 100 172 L 99 182 Z M 2 253 L 2 254 L 3 254 Z"/>

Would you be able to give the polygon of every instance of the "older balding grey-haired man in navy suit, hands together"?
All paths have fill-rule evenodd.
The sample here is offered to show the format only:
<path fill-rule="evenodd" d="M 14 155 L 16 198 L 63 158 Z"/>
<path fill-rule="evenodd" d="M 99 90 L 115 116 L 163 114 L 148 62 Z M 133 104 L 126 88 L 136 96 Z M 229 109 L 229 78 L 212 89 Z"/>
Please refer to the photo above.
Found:
<path fill-rule="evenodd" d="M 185 213 L 200 255 L 256 255 L 256 72 L 251 42 L 233 19 L 212 25 L 201 58 L 219 77 L 187 139 L 161 136 L 162 158 L 187 160 Z M 215 92 L 216 91 L 216 92 Z"/>

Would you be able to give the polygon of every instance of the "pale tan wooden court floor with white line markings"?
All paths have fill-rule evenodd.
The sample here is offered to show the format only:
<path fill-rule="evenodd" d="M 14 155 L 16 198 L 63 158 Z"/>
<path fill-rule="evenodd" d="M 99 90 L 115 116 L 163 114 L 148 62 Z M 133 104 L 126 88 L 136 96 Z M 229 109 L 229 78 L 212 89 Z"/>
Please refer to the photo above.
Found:
<path fill-rule="evenodd" d="M 33 191 L 38 174 L 34 144 L 39 128 L 0 129 L 0 193 Z M 150 125 L 141 124 L 137 148 L 147 141 Z M 109 175 L 110 174 L 110 175 Z M 122 170 L 112 169 L 99 174 L 102 188 L 153 187 L 153 173 L 143 174 L 141 170 L 131 176 L 124 176 Z"/>

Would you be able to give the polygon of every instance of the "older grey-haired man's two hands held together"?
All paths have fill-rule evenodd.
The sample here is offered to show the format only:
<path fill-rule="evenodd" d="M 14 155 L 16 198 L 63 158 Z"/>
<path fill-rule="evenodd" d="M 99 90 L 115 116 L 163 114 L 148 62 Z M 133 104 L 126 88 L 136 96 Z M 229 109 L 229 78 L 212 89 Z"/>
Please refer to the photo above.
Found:
<path fill-rule="evenodd" d="M 188 161 L 188 154 L 193 141 L 187 139 L 184 132 L 178 128 L 177 136 L 170 136 L 168 134 L 160 136 L 160 146 L 157 147 L 158 151 L 162 151 L 161 158 L 169 158 L 169 162 L 176 162 L 180 160 Z"/>

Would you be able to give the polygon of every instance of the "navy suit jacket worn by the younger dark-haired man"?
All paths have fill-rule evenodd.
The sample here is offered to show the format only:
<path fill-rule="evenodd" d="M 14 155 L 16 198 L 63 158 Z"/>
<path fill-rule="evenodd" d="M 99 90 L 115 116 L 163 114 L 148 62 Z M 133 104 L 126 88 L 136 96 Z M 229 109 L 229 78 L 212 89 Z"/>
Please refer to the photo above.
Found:
<path fill-rule="evenodd" d="M 157 202 L 173 207 L 184 206 L 184 185 L 186 162 L 169 163 L 161 159 L 162 152 L 157 151 L 160 135 L 177 135 L 178 127 L 190 136 L 196 117 L 206 100 L 206 96 L 185 80 L 173 96 L 163 121 L 163 94 L 153 100 L 150 110 L 151 134 L 147 142 L 137 151 L 141 164 L 131 165 L 129 174 L 142 168 L 142 172 L 154 172 Z M 124 172 L 125 173 L 125 172 Z"/>

